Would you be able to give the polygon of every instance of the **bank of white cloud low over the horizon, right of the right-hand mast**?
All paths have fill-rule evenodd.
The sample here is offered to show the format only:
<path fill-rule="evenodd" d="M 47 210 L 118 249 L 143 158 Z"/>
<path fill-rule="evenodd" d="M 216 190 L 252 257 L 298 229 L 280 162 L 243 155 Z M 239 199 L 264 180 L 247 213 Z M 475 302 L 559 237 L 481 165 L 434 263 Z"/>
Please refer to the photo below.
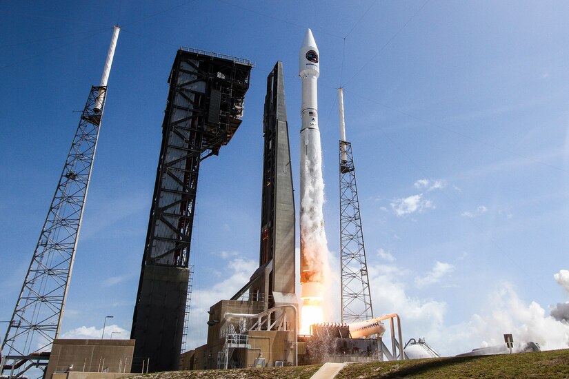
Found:
<path fill-rule="evenodd" d="M 557 305 L 552 315 L 547 316 L 538 303 L 521 300 L 513 285 L 499 283 L 470 320 L 449 324 L 445 322 L 449 306 L 445 302 L 408 294 L 405 284 L 405 278 L 410 274 L 408 269 L 395 265 L 368 265 L 368 269 L 376 313 L 395 312 L 401 316 L 403 342 L 425 337 L 442 356 L 501 345 L 503 334 L 510 333 L 516 344 L 537 342 L 543 350 L 569 347 L 569 322 L 559 320 L 567 314 L 569 303 Z M 446 270 L 434 268 L 432 273 Z M 563 311 L 566 313 L 561 314 Z M 390 338 L 388 333 L 385 338 Z"/>

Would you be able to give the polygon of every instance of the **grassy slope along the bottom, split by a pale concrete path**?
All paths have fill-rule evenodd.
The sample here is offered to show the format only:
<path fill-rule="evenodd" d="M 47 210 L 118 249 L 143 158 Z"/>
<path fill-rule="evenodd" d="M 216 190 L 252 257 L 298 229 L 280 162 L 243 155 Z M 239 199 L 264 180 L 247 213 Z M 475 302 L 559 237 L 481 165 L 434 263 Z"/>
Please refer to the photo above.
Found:
<path fill-rule="evenodd" d="M 308 379 L 319 368 L 320 365 L 223 371 L 173 371 L 152 373 L 142 377 L 148 379 Z M 500 356 L 353 363 L 346 365 L 336 378 L 569 378 L 569 349 Z"/>

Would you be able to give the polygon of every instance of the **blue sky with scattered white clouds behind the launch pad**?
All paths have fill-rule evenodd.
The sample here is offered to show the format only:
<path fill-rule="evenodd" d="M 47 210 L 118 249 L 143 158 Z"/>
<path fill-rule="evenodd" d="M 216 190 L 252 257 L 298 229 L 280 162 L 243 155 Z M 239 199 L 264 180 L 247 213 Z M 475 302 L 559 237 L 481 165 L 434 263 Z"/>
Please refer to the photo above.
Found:
<path fill-rule="evenodd" d="M 569 346 L 559 316 L 569 300 L 569 3 L 310 4 L 1 3 L 0 320 L 17 300 L 79 122 L 74 111 L 99 83 L 119 23 L 63 335 L 100 336 L 108 315 L 107 333 L 130 335 L 167 79 L 185 45 L 255 64 L 239 131 L 201 166 L 188 347 L 205 342 L 206 309 L 257 265 L 263 99 L 277 60 L 298 167 L 298 50 L 312 28 L 336 274 L 343 85 L 375 314 L 399 313 L 404 340 L 426 337 L 445 355 L 506 333 Z M 339 320 L 338 283 L 334 291 L 330 321 Z"/>

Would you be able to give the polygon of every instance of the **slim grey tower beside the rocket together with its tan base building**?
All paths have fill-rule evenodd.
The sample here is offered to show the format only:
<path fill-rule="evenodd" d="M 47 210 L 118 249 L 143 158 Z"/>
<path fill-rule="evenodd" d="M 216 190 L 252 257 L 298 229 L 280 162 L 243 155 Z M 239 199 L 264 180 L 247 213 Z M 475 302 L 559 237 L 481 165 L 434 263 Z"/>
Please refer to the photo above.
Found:
<path fill-rule="evenodd" d="M 282 63 L 267 78 L 259 269 L 210 308 L 208 342 L 183 354 L 187 369 L 297 364 L 295 199 Z"/>

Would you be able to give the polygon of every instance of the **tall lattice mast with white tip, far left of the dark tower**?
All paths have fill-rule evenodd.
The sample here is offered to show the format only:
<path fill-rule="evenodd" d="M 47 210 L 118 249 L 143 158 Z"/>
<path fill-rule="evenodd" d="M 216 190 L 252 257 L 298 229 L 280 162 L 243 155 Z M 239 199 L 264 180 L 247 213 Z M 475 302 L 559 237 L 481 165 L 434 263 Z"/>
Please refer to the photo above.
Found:
<path fill-rule="evenodd" d="M 8 378 L 21 377 L 32 367 L 45 370 L 52 342 L 59 337 L 119 30 L 113 29 L 101 83 L 91 87 L 81 113 L 2 343 L 0 373 Z"/>

